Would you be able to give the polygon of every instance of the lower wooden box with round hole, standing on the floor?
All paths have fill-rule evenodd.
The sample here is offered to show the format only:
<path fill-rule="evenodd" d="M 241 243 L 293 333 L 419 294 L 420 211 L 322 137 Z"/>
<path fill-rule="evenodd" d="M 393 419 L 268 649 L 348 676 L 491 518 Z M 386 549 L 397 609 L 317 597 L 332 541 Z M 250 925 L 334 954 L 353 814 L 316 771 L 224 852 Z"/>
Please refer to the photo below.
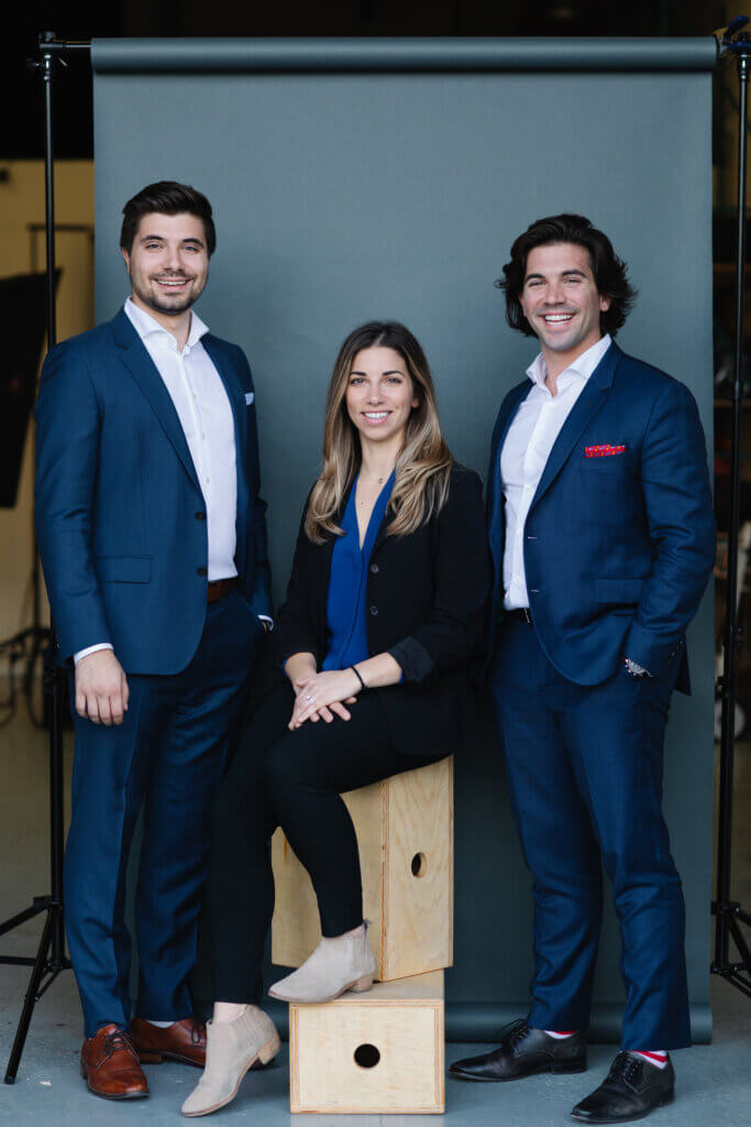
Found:
<path fill-rule="evenodd" d="M 290 1004 L 289 1109 L 445 1111 L 444 971 Z"/>

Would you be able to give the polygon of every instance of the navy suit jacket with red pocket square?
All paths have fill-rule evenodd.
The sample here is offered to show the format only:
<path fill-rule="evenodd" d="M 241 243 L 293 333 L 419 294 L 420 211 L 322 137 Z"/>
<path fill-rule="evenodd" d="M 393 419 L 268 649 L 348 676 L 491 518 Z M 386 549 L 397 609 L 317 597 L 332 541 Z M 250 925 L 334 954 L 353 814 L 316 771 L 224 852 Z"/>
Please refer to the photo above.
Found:
<path fill-rule="evenodd" d="M 503 605 L 500 453 L 531 387 L 526 379 L 509 392 L 493 433 L 491 655 Z M 625 450 L 585 456 L 607 444 Z M 524 550 L 535 628 L 563 676 L 599 684 L 626 655 L 688 692 L 686 628 L 715 560 L 706 445 L 688 388 L 613 344 L 551 451 Z"/>

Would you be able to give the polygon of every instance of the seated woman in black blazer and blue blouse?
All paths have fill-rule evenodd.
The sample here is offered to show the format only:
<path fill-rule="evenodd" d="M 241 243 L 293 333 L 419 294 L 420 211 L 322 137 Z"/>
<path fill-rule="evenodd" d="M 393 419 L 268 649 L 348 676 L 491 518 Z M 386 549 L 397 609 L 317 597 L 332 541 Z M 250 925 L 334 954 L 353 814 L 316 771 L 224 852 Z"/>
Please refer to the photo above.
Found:
<path fill-rule="evenodd" d="M 278 825 L 311 875 L 323 939 L 270 993 L 322 1002 L 373 983 L 340 795 L 458 749 L 489 589 L 480 478 L 444 441 L 424 354 L 401 325 L 363 326 L 329 388 L 323 469 L 275 631 L 278 684 L 220 795 L 207 887 L 216 1001 L 186 1115 L 229 1103 L 279 1046 L 258 1009 Z"/>

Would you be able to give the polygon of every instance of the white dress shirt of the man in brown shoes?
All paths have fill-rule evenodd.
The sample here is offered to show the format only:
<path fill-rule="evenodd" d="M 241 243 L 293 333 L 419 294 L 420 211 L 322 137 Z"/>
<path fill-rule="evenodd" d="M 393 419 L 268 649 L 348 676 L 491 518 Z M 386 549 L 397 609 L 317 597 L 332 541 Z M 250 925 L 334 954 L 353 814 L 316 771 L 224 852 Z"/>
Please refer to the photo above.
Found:
<path fill-rule="evenodd" d="M 209 583 L 235 576 L 238 468 L 234 416 L 222 376 L 202 344 L 200 338 L 208 332 L 208 327 L 191 312 L 190 331 L 180 352 L 172 334 L 131 298 L 125 302 L 125 313 L 164 381 L 196 468 L 206 503 Z M 108 642 L 89 646 L 79 650 L 74 660 L 78 664 L 87 654 L 111 648 Z"/>

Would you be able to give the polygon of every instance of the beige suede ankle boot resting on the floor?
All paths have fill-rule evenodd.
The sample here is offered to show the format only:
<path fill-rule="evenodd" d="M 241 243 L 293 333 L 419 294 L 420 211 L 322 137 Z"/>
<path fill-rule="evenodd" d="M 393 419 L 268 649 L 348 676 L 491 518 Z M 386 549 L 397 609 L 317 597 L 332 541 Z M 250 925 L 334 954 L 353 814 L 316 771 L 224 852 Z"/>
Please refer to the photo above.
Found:
<path fill-rule="evenodd" d="M 259 1061 L 268 1064 L 281 1047 L 276 1026 L 257 1005 L 249 1005 L 234 1021 L 206 1024 L 206 1067 L 188 1099 L 184 1116 L 207 1116 L 230 1103 L 240 1082 Z"/>

